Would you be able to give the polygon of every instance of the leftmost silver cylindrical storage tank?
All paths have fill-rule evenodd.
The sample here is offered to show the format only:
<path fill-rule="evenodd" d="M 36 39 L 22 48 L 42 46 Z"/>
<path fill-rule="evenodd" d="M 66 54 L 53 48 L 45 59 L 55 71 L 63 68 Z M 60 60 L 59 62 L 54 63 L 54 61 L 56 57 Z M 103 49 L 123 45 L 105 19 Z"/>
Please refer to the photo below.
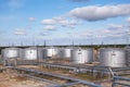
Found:
<path fill-rule="evenodd" d="M 2 50 L 2 57 L 5 59 L 18 58 L 20 49 L 18 48 L 5 48 Z"/>

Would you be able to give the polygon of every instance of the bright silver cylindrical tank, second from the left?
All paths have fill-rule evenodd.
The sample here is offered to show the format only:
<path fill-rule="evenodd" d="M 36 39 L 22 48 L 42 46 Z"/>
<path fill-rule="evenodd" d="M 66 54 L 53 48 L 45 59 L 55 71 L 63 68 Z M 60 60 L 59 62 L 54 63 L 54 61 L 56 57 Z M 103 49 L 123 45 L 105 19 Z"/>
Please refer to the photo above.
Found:
<path fill-rule="evenodd" d="M 30 47 L 30 48 L 25 48 L 24 49 L 24 59 L 25 60 L 37 60 L 38 54 L 37 54 L 37 47 Z"/>

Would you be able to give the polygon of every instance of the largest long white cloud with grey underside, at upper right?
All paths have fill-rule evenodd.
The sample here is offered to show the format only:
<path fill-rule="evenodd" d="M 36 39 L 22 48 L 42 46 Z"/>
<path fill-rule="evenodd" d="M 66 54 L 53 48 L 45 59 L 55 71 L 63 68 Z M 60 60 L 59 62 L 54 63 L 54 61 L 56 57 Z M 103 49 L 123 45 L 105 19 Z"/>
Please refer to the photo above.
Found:
<path fill-rule="evenodd" d="M 69 15 L 86 21 L 100 21 L 109 17 L 117 17 L 130 14 L 130 4 L 117 5 L 90 5 L 76 8 L 69 12 Z"/>

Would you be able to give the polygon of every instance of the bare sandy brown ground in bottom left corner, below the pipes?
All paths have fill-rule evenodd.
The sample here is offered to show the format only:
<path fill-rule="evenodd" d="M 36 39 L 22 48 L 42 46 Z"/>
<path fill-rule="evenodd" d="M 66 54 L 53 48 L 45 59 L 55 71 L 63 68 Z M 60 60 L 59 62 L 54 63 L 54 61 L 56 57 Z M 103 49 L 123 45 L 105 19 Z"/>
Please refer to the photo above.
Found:
<path fill-rule="evenodd" d="M 20 77 L 16 73 L 0 73 L 0 87 L 50 87 L 49 83 Z"/>

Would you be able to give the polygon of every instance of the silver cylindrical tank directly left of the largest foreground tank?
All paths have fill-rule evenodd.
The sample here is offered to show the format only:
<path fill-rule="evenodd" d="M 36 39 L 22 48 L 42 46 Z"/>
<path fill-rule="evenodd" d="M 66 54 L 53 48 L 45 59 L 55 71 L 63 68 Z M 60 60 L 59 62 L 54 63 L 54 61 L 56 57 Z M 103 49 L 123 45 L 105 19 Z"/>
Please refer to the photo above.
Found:
<path fill-rule="evenodd" d="M 93 49 L 73 49 L 70 60 L 73 63 L 91 63 L 93 62 Z"/>

